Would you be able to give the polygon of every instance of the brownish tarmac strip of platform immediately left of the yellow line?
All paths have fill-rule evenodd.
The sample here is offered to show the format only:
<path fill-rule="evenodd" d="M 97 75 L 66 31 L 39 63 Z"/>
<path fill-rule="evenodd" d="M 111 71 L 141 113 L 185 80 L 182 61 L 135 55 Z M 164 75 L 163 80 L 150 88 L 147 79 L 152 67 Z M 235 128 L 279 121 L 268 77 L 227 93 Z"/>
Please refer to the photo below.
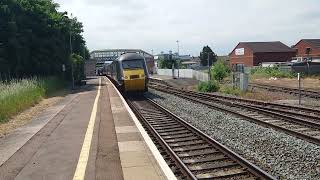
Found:
<path fill-rule="evenodd" d="M 95 91 L 79 96 L 79 103 L 74 104 L 60 125 L 15 177 L 16 180 L 51 180 L 54 174 L 57 178 L 53 179 L 72 179 L 95 96 Z"/>

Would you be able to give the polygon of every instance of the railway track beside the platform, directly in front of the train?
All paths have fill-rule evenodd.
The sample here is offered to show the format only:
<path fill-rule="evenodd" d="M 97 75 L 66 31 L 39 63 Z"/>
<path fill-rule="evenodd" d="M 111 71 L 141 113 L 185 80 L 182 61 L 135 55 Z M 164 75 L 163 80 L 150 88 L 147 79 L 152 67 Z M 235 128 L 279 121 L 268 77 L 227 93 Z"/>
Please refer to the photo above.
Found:
<path fill-rule="evenodd" d="M 127 99 L 179 179 L 275 179 L 151 99 Z"/>

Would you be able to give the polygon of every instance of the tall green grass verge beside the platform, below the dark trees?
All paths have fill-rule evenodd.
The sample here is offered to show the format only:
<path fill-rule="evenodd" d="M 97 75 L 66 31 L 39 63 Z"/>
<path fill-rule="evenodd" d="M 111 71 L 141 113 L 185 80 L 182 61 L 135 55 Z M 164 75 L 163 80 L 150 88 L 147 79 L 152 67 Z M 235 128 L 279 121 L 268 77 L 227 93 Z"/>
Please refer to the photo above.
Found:
<path fill-rule="evenodd" d="M 56 77 L 12 80 L 0 83 L 0 123 L 37 104 L 42 98 L 65 88 L 67 83 Z"/>

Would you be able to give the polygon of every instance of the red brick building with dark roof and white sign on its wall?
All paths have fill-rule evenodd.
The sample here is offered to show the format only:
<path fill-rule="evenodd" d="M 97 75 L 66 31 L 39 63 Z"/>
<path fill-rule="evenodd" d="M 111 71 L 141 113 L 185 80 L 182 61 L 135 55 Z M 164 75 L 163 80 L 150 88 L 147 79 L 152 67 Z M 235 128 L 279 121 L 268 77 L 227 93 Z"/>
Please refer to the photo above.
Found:
<path fill-rule="evenodd" d="M 231 65 L 258 66 L 263 62 L 287 62 L 296 55 L 294 49 L 280 41 L 240 42 L 230 55 Z"/>

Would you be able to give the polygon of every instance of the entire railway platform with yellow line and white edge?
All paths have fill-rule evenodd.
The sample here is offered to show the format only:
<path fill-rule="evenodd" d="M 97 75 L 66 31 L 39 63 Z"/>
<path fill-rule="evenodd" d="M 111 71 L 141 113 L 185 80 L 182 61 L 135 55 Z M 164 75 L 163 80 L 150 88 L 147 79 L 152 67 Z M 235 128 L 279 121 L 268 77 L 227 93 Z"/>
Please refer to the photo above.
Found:
<path fill-rule="evenodd" d="M 175 179 L 113 84 L 86 87 L 0 139 L 0 179 Z"/>

